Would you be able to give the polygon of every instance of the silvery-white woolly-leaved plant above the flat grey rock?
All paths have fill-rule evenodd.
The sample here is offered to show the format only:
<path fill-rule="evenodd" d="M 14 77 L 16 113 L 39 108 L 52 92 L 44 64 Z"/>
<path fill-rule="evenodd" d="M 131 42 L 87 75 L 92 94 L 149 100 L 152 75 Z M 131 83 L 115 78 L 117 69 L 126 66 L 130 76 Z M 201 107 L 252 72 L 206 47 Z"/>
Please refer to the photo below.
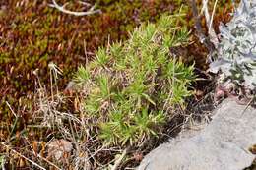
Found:
<path fill-rule="evenodd" d="M 242 0 L 226 25 L 220 25 L 217 57 L 210 71 L 220 72 L 219 83 L 256 89 L 256 0 Z"/>

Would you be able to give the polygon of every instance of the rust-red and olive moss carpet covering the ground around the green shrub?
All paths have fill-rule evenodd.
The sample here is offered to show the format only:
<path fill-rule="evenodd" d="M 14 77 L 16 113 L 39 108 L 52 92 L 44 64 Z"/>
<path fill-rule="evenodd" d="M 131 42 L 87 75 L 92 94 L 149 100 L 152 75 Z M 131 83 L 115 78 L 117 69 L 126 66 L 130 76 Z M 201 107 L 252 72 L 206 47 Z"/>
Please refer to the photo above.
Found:
<path fill-rule="evenodd" d="M 59 3 L 67 1 L 58 0 Z M 39 69 L 38 75 L 42 84 L 49 85 L 47 66 L 53 61 L 63 70 L 63 77 L 58 82 L 58 86 L 62 89 L 70 80 L 72 73 L 77 70 L 78 65 L 91 60 L 90 53 L 94 53 L 99 46 L 104 46 L 109 41 L 126 39 L 129 32 L 141 23 L 155 22 L 163 12 L 175 13 L 180 5 L 184 5 L 187 1 L 91 0 L 88 2 L 96 2 L 96 8 L 101 9 L 102 14 L 85 17 L 69 16 L 50 8 L 48 6 L 50 0 L 24 1 L 23 5 L 17 5 L 21 4 L 18 2 L 20 1 L 5 1 L 2 4 L 6 6 L 6 10 L 0 11 L 0 126 L 5 128 L 0 132 L 2 133 L 0 140 L 5 141 L 6 137 L 9 137 L 10 129 L 15 124 L 15 116 L 6 104 L 8 101 L 22 118 L 19 120 L 21 121 L 19 126 L 16 127 L 16 133 L 28 132 L 28 139 L 32 142 L 45 141 L 45 136 L 51 133 L 26 127 L 32 121 L 31 112 L 34 109 L 32 93 L 36 77 L 32 74 L 33 70 Z M 210 3 L 214 4 L 214 0 Z M 224 10 L 219 10 L 218 7 L 215 17 L 219 21 L 226 19 L 224 14 L 229 8 L 226 3 L 230 4 L 230 1 L 222 1 L 220 5 Z M 188 8 L 184 7 L 183 10 L 187 11 Z M 71 6 L 71 8 L 81 9 L 79 6 Z M 190 26 L 191 21 L 188 16 L 183 23 L 188 23 Z M 189 54 L 192 52 L 197 57 L 197 62 L 205 63 L 206 53 L 202 52 L 202 47 L 192 46 L 191 49 L 193 50 L 189 50 Z M 191 57 L 191 60 L 195 60 L 195 57 Z M 122 63 L 116 69 L 121 71 L 123 69 L 121 65 Z M 160 95 L 160 97 L 166 96 Z M 14 145 L 25 148 L 25 143 L 23 140 L 20 142 L 18 137 Z"/>

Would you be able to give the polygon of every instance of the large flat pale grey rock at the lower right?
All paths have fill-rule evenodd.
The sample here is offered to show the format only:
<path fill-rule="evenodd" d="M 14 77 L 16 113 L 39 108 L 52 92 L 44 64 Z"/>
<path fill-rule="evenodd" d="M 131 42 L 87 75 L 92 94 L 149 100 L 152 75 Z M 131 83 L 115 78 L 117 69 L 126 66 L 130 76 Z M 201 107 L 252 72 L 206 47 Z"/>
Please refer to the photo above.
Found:
<path fill-rule="evenodd" d="M 242 170 L 255 156 L 256 109 L 225 100 L 198 132 L 181 133 L 150 152 L 139 170 Z"/>

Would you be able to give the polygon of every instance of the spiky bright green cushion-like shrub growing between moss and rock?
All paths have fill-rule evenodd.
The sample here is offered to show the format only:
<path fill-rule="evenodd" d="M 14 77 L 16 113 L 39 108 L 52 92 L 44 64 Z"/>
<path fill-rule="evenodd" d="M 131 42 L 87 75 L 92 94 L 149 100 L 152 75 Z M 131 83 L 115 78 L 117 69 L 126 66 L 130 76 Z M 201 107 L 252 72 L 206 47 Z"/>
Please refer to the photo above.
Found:
<path fill-rule="evenodd" d="M 177 17 L 136 28 L 129 40 L 99 48 L 96 59 L 78 69 L 74 82 L 84 94 L 83 113 L 104 142 L 143 142 L 158 135 L 176 105 L 185 106 L 195 76 L 193 66 L 170 53 L 188 44 L 189 32 L 178 27 Z"/>

